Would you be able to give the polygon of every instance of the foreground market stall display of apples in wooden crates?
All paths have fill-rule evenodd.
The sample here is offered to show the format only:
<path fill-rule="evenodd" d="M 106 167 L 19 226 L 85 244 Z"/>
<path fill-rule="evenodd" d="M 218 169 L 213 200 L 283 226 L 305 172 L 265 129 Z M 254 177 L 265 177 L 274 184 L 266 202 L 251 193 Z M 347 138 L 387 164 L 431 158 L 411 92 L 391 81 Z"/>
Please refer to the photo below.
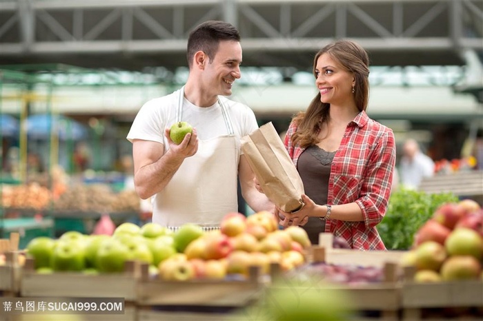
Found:
<path fill-rule="evenodd" d="M 10 278 L 8 284 L 1 283 L 2 289 L 21 298 L 124 298 L 122 317 L 93 315 L 89 320 L 482 317 L 483 211 L 474 201 L 438 207 L 417 231 L 409 251 L 356 251 L 330 234 L 321 234 L 319 245 L 311 246 L 303 229 L 279 230 L 272 219 L 265 212 L 248 218 L 230 213 L 220 229 L 210 231 L 190 224 L 173 231 L 153 223 L 124 222 L 112 235 L 68 231 L 59 238 L 35 238 L 24 249 L 23 267 L 0 265 L 1 276 Z M 444 239 L 433 233 L 434 224 L 449 231 Z M 458 245 L 459 238 L 464 246 Z M 55 246 L 44 246 L 42 254 L 36 242 Z M 429 249 L 414 256 L 424 247 Z M 8 262 L 14 262 L 17 252 L 7 252 Z M 460 256 L 465 258 L 455 265 L 460 271 L 445 272 L 446 262 Z M 467 264 L 468 257 L 478 265 Z M 418 276 L 430 268 L 434 273 Z M 437 279 L 430 277 L 435 273 Z M 274 302 L 297 293 L 305 303 L 321 298 L 332 303 L 309 304 L 309 309 L 302 300 L 287 301 L 281 311 L 290 307 L 290 313 L 282 318 L 273 305 L 280 302 Z"/>

